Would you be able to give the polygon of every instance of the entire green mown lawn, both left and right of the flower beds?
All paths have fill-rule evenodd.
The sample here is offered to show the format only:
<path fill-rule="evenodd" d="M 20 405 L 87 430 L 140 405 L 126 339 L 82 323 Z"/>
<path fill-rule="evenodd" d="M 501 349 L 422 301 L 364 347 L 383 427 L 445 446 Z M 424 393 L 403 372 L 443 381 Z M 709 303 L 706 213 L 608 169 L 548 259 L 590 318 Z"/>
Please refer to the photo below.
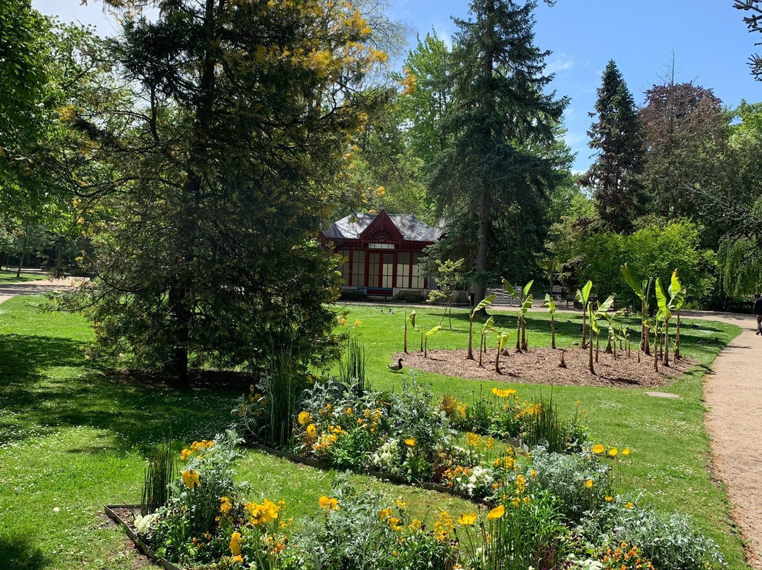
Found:
<path fill-rule="evenodd" d="M 101 370 L 82 357 L 80 347 L 92 337 L 83 319 L 37 312 L 27 305 L 30 300 L 16 297 L 0 306 L 0 568 L 133 568 L 135 555 L 124 548 L 123 533 L 101 516 L 104 504 L 139 501 L 150 445 L 170 429 L 174 439 L 186 444 L 211 437 L 229 423 L 233 400 L 244 387 L 174 389 Z M 362 322 L 356 330 L 368 348 L 373 387 L 399 389 L 402 375 L 389 372 L 386 364 L 402 350 L 403 309 L 395 307 L 393 315 L 381 315 L 373 306 L 347 309 L 350 323 Z M 424 330 L 439 320 L 432 309 L 417 312 L 417 325 Z M 559 344 L 570 346 L 576 340 L 578 322 L 564 315 Z M 528 328 L 530 348 L 549 345 L 546 315 L 531 314 Z M 430 347 L 465 350 L 467 331 L 466 313 L 453 312 L 453 331 L 434 335 Z M 684 351 L 706 366 L 738 332 L 716 323 L 688 327 Z M 711 341 L 699 342 L 707 339 Z M 632 447 L 622 464 L 623 480 L 644 488 L 660 508 L 693 515 L 721 544 L 731 568 L 745 568 L 725 496 L 706 470 L 702 376 L 698 368 L 671 386 L 683 396 L 680 400 L 650 399 L 639 389 L 562 386 L 553 389 L 553 399 L 562 413 L 580 400 L 597 440 Z M 496 385 L 434 374 L 421 378 L 432 383 L 434 393 L 450 392 L 460 399 Z M 527 399 L 540 389 L 549 393 L 547 386 L 514 387 Z M 251 483 L 251 498 L 283 499 L 286 516 L 297 520 L 319 511 L 317 498 L 328 493 L 335 479 L 335 473 L 253 451 L 237 470 L 240 480 Z M 441 506 L 455 512 L 472 509 L 464 501 L 415 488 L 361 476 L 352 480 L 390 498 L 403 496 L 420 514 Z"/>

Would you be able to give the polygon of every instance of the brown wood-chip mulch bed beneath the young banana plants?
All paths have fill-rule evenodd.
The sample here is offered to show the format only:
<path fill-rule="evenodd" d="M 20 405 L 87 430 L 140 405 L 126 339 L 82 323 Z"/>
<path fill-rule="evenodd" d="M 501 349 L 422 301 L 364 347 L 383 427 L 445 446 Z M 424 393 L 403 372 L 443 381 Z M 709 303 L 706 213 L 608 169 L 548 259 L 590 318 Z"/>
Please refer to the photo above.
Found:
<path fill-rule="evenodd" d="M 565 368 L 559 366 L 563 352 Z M 522 384 L 555 384 L 561 386 L 616 386 L 620 388 L 655 388 L 665 386 L 693 365 L 687 358 L 670 362 L 664 367 L 659 360 L 659 370 L 654 370 L 654 358 L 641 356 L 631 351 L 617 351 L 616 359 L 606 354 L 603 349 L 598 353 L 598 362 L 594 363 L 595 374 L 588 366 L 588 349 L 578 347 L 568 349 L 532 348 L 518 354 L 504 351 L 500 357 L 501 373 L 495 372 L 495 349 L 482 356 L 483 367 L 479 367 L 479 351 L 475 351 L 476 360 L 468 360 L 466 351 L 428 351 L 424 358 L 422 352 L 395 354 L 394 360 L 402 358 L 403 371 L 415 368 L 425 372 L 444 374 L 478 380 L 497 380 L 498 382 Z M 595 353 L 593 353 L 595 357 Z M 670 357 L 670 360 L 672 358 Z"/>

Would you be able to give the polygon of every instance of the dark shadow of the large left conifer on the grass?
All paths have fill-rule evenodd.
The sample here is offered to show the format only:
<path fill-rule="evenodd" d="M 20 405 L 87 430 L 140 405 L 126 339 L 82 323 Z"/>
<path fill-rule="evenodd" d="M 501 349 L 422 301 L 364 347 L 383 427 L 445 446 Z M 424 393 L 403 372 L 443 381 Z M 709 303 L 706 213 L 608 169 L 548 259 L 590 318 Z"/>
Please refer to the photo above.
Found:
<path fill-rule="evenodd" d="M 178 387 L 156 373 L 101 370 L 70 339 L 0 336 L 0 408 L 15 441 L 78 426 L 110 434 L 93 450 L 146 449 L 170 433 L 208 439 L 230 424 L 235 399 L 253 382 L 249 374 L 198 372 Z"/>

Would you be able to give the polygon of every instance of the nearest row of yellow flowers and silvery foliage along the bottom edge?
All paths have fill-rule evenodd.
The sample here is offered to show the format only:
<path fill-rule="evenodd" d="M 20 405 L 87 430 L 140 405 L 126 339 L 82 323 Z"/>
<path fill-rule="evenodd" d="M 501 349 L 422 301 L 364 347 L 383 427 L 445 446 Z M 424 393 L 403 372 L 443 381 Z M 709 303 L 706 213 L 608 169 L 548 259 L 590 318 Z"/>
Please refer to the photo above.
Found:
<path fill-rule="evenodd" d="M 536 447 L 521 462 L 503 453 L 491 483 L 494 507 L 440 511 L 428 524 L 415 506 L 360 495 L 340 479 L 297 532 L 286 504 L 247 500 L 251 489 L 233 482 L 238 442 L 233 432 L 194 442 L 181 455 L 167 504 L 132 521 L 158 556 L 210 570 L 724 566 L 716 545 L 684 517 L 615 495 L 608 474 L 623 453 L 600 444 L 566 454 Z"/>

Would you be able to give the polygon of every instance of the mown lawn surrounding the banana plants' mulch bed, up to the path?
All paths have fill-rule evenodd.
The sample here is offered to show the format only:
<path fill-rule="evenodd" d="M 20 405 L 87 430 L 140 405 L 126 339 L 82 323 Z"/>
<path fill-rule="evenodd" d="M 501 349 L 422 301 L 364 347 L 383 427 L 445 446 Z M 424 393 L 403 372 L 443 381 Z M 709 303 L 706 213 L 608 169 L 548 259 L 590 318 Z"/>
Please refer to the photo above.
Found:
<path fill-rule="evenodd" d="M 360 335 L 367 348 L 367 375 L 375 389 L 399 389 L 402 373 L 391 372 L 386 365 L 396 352 L 402 352 L 405 315 L 411 309 L 394 307 L 381 312 L 380 306 L 347 305 L 348 326 L 359 320 L 353 334 Z M 416 308 L 416 328 L 428 331 L 440 322 L 442 309 Z M 498 326 L 514 330 L 515 311 L 489 310 Z M 475 319 L 474 330 L 485 319 Z M 581 313 L 562 312 L 556 315 L 556 345 L 574 348 L 581 340 Z M 430 350 L 455 349 L 466 356 L 468 347 L 468 312 L 453 310 L 453 328 L 429 338 Z M 476 322 L 479 322 L 477 326 Z M 639 323 L 629 325 L 639 331 Z M 622 449 L 629 446 L 632 455 L 616 462 L 616 472 L 623 485 L 644 493 L 643 500 L 662 511 L 680 511 L 690 515 L 696 526 L 714 538 L 722 547 L 731 568 L 745 568 L 741 537 L 732 524 L 728 501 L 721 485 L 709 470 L 710 442 L 703 424 L 703 381 L 706 371 L 722 347 L 735 338 L 741 329 L 720 322 L 687 319 L 680 333 L 680 350 L 696 360 L 696 366 L 677 379 L 665 391 L 680 399 L 659 399 L 645 395 L 647 389 L 601 388 L 586 386 L 539 386 L 516 383 L 476 381 L 419 373 L 421 381 L 431 383 L 434 394 L 450 393 L 458 399 L 472 401 L 479 394 L 489 394 L 495 386 L 517 389 L 521 399 L 536 400 L 540 395 L 558 406 L 562 417 L 571 418 L 576 402 L 584 410 L 583 423 L 596 442 Z M 527 333 L 532 347 L 550 346 L 550 323 L 546 312 L 527 315 Z M 633 340 L 638 338 L 633 333 Z M 414 339 L 411 344 L 411 338 Z M 515 337 L 513 337 L 515 342 Z M 478 342 L 478 341 L 477 341 Z M 489 339 L 495 345 L 493 338 Z M 508 346 L 512 346 L 511 343 Z M 417 351 L 420 339 L 408 328 L 408 350 Z M 633 353 L 634 357 L 634 353 Z M 404 362 L 403 362 L 404 364 Z M 405 370 L 403 369 L 403 372 Z"/>

